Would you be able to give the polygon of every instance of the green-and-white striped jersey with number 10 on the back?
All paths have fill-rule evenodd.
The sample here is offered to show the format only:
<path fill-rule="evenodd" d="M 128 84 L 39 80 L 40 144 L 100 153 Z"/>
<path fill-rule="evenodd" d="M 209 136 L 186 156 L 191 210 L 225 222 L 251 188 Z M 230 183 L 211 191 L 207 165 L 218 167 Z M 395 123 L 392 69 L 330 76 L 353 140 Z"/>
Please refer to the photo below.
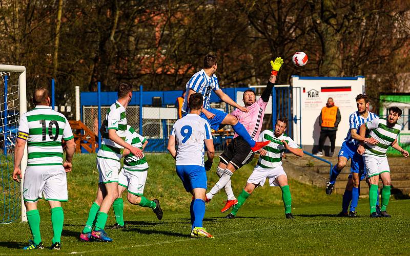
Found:
<path fill-rule="evenodd" d="M 38 166 L 63 165 L 61 139 L 74 136 L 63 114 L 38 105 L 20 116 L 17 138 L 27 140 L 27 166 Z"/>

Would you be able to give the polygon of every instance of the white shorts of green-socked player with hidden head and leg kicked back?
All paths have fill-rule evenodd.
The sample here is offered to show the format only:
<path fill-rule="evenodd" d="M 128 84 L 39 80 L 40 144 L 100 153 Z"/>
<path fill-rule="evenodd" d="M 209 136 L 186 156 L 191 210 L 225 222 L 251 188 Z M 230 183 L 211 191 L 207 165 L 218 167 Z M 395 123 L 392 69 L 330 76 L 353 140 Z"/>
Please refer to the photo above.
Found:
<path fill-rule="evenodd" d="M 119 173 L 118 185 L 126 187 L 130 194 L 136 196 L 144 195 L 145 182 L 148 170 L 127 170 L 122 168 Z"/>

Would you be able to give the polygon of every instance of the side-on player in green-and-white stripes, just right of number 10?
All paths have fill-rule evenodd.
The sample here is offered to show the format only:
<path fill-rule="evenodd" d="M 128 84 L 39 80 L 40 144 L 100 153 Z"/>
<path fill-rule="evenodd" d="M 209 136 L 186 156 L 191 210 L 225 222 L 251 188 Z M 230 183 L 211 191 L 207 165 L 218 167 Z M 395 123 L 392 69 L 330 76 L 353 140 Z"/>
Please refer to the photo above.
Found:
<path fill-rule="evenodd" d="M 132 85 L 120 83 L 117 87 L 117 95 L 118 100 L 110 106 L 106 119 L 100 127 L 103 141 L 97 153 L 99 175 L 97 197 L 91 205 L 86 225 L 80 233 L 80 241 L 83 242 L 92 241 L 91 238 L 97 241 L 112 242 L 104 229 L 108 211 L 118 198 L 118 173 L 124 148 L 142 158 L 142 151 L 138 147 L 124 141 L 127 130 L 125 110 L 132 98 Z"/>

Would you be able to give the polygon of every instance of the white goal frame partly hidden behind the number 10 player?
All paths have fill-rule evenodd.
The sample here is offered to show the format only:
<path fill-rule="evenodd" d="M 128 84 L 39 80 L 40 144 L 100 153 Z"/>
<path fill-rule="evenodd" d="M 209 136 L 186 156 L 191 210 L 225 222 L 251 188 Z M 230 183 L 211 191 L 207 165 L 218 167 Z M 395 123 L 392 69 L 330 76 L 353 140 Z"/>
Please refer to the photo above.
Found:
<path fill-rule="evenodd" d="M 19 115 L 27 112 L 27 91 L 26 91 L 26 67 L 24 66 L 14 66 L 14 65 L 0 65 L 0 71 L 9 71 L 20 73 L 18 76 L 18 98 L 19 98 Z M 24 172 L 27 167 L 27 143 L 24 148 L 24 154 L 22 163 L 20 164 L 22 168 L 22 177 L 24 178 Z M 22 222 L 27 221 L 26 206 L 24 206 L 23 199 L 23 178 L 20 184 L 20 197 L 22 204 Z"/>

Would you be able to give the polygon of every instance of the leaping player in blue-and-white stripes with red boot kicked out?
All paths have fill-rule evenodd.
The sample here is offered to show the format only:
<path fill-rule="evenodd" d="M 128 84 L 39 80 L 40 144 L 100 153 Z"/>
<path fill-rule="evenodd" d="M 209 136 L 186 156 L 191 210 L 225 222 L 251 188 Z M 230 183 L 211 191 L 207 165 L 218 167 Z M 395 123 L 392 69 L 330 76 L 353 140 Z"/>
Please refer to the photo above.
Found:
<path fill-rule="evenodd" d="M 207 54 L 203 58 L 203 69 L 196 72 L 195 75 L 193 75 L 187 82 L 186 87 L 188 93 L 183 99 L 181 111 L 182 116 L 186 116 L 190 111 L 188 106 L 189 97 L 194 93 L 200 93 L 203 96 L 203 108 L 200 113 L 200 117 L 207 120 L 211 125 L 211 128 L 215 131 L 219 130 L 220 125 L 231 125 L 234 131 L 245 141 L 247 141 L 249 145 L 251 145 L 252 151 L 257 152 L 260 148 L 267 145 L 267 142 L 269 143 L 269 141 L 254 141 L 243 124 L 238 122 L 238 119 L 235 116 L 217 109 L 211 109 L 209 101 L 211 98 L 211 93 L 214 91 L 223 102 L 234 106 L 240 111 L 248 112 L 247 108 L 238 105 L 219 88 L 218 78 L 214 74 L 218 67 L 217 60 L 218 59 L 215 55 Z"/>

